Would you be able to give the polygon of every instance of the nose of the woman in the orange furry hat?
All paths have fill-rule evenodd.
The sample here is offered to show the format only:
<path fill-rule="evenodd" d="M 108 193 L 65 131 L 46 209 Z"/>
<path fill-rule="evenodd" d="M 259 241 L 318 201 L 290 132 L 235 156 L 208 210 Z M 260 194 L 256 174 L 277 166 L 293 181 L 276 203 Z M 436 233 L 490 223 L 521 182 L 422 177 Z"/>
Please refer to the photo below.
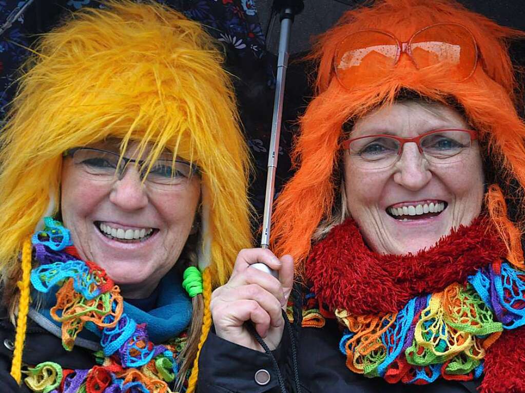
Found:
<path fill-rule="evenodd" d="M 428 161 L 415 143 L 406 143 L 395 164 L 394 181 L 408 190 L 417 191 L 425 187 L 430 179 L 432 173 L 428 170 Z"/>

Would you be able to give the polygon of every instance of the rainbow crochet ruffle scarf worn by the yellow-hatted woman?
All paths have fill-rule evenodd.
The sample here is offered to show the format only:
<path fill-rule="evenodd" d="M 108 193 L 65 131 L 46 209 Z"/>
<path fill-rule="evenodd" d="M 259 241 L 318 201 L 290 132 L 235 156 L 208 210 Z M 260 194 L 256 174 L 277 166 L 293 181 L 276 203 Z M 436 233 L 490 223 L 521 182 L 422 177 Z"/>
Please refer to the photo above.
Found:
<path fill-rule="evenodd" d="M 96 332 L 102 350 L 91 369 L 62 369 L 45 362 L 27 370 L 24 379 L 42 393 L 168 393 L 178 372 L 177 355 L 185 334 L 163 345 L 148 339 L 144 323 L 123 311 L 120 289 L 106 272 L 82 261 L 72 247 L 69 231 L 46 217 L 46 227 L 33 235 L 38 267 L 31 272 L 35 290 L 56 289 L 52 318 L 61 323 L 62 345 L 71 350 L 77 335 L 86 328 Z"/>

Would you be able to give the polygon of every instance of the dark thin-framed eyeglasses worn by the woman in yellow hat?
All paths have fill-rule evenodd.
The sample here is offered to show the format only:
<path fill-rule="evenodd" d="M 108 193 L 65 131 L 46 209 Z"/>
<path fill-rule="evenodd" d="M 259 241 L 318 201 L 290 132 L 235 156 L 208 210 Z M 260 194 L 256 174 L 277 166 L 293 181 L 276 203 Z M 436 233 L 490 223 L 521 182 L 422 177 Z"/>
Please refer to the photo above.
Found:
<path fill-rule="evenodd" d="M 80 176 L 93 181 L 121 180 L 130 164 L 137 166 L 141 179 L 154 188 L 164 190 L 184 186 L 193 176 L 199 176 L 199 169 L 195 164 L 173 157 L 157 159 L 150 165 L 144 160 L 123 157 L 117 152 L 93 147 L 72 148 L 64 156 L 72 158 Z"/>

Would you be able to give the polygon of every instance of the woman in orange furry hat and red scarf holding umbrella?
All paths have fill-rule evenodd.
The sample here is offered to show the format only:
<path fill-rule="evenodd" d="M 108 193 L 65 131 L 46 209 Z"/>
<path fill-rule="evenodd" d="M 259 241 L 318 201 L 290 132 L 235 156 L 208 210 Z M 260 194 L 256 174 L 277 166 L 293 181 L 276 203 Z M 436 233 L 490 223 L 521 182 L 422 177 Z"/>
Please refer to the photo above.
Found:
<path fill-rule="evenodd" d="M 222 340 L 261 392 L 525 392 L 523 36 L 451 0 L 378 0 L 320 37 L 272 232 L 304 282 L 290 334 L 266 297 L 266 319 L 241 312 L 234 273 L 201 361 Z M 247 320 L 259 352 L 224 343 L 253 349 Z"/>

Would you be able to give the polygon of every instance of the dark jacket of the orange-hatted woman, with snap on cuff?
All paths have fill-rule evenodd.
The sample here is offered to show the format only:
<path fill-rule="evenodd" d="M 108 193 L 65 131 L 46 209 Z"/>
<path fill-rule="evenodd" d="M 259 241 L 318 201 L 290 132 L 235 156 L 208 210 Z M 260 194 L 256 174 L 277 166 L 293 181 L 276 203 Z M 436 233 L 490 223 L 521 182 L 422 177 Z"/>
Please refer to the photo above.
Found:
<path fill-rule="evenodd" d="M 286 380 L 295 391 L 291 337 L 288 325 L 280 346 L 272 352 Z M 352 373 L 339 352 L 341 333 L 334 320 L 323 328 L 301 328 L 297 339 L 297 364 L 303 393 L 477 393 L 479 381 L 457 382 L 439 378 L 429 385 L 391 385 L 380 378 Z M 256 383 L 258 370 L 267 370 L 267 385 Z M 271 356 L 220 339 L 210 332 L 199 357 L 198 393 L 282 393 Z"/>

